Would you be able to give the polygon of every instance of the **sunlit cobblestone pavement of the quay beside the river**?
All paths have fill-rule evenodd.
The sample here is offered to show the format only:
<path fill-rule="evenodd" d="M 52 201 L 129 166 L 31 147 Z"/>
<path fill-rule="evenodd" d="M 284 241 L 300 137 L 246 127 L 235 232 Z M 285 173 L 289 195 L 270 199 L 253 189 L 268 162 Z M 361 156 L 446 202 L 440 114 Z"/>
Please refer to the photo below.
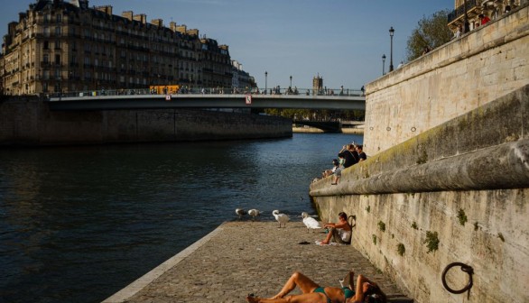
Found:
<path fill-rule="evenodd" d="M 339 286 L 339 279 L 350 269 L 376 280 L 392 301 L 408 301 L 353 247 L 316 245 L 325 234 L 322 230 L 308 232 L 302 222 L 278 226 L 275 222 L 220 225 L 180 262 L 162 269 L 157 279 L 149 280 L 134 296 L 126 295 L 130 298 L 125 302 L 246 302 L 248 293 L 275 295 L 293 271 L 301 271 L 322 286 Z"/>

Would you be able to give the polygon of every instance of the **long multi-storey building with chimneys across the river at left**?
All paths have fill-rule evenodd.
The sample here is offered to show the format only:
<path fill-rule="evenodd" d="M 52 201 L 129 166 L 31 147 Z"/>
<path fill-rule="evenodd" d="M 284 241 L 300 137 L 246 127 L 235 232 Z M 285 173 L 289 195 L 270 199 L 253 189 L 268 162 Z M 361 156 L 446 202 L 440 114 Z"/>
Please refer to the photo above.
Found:
<path fill-rule="evenodd" d="M 0 56 L 6 95 L 150 85 L 232 87 L 227 45 L 145 14 L 88 0 L 38 0 L 8 24 Z"/>

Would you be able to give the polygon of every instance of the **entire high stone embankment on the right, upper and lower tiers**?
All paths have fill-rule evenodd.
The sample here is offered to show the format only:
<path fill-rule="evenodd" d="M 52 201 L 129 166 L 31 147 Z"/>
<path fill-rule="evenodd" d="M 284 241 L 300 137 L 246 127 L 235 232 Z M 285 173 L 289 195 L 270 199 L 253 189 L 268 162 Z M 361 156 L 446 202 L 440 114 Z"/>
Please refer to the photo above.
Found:
<path fill-rule="evenodd" d="M 311 184 L 322 220 L 356 215 L 354 247 L 416 302 L 529 301 L 528 16 L 368 84 L 369 158 Z M 469 293 L 443 287 L 452 262 L 472 267 Z M 445 278 L 463 289 L 469 274 Z"/>

